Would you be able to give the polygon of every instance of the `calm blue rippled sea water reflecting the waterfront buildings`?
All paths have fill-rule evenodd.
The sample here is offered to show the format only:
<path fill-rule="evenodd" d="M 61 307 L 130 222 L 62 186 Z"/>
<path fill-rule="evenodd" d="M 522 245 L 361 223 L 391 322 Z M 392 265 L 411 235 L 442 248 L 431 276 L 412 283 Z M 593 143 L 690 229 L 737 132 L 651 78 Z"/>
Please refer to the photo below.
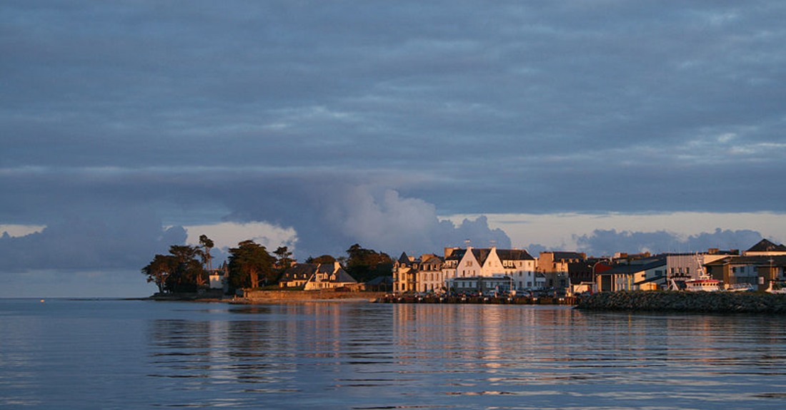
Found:
<path fill-rule="evenodd" d="M 786 408 L 786 317 L 0 300 L 7 408 Z"/>

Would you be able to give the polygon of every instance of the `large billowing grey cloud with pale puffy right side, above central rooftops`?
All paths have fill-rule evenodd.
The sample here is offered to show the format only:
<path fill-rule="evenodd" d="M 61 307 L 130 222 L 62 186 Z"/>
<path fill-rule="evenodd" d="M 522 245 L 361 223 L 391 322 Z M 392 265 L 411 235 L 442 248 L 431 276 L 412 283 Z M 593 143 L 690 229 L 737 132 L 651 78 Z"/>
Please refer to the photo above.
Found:
<path fill-rule="evenodd" d="M 491 229 L 485 216 L 459 225 L 439 220 L 435 205 L 406 198 L 396 190 L 373 185 L 299 181 L 274 190 L 274 200 L 241 204 L 232 220 L 266 220 L 270 216 L 297 231 L 300 256 L 342 255 L 354 243 L 383 252 L 439 252 L 450 245 L 509 248 L 510 238 Z"/>

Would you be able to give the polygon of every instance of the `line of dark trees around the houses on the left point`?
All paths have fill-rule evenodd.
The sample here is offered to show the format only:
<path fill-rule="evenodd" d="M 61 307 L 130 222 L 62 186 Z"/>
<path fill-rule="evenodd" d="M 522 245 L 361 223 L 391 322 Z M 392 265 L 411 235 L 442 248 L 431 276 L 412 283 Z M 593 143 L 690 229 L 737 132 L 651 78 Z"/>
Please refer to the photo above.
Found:
<path fill-rule="evenodd" d="M 215 243 L 201 235 L 199 245 L 171 245 L 167 255 L 156 255 L 141 269 L 148 282 L 155 283 L 160 293 L 197 292 L 208 288 L 209 275 L 213 270 L 211 249 Z M 260 288 L 274 285 L 281 274 L 291 266 L 292 252 L 280 246 L 273 254 L 255 241 L 241 241 L 229 249 L 230 256 L 221 270 L 226 275 L 230 292 L 237 288 Z M 390 275 L 393 260 L 384 252 L 364 249 L 358 244 L 347 249 L 347 257 L 334 258 L 322 255 L 309 256 L 306 263 L 339 262 L 355 280 L 369 281 L 378 276 Z"/>

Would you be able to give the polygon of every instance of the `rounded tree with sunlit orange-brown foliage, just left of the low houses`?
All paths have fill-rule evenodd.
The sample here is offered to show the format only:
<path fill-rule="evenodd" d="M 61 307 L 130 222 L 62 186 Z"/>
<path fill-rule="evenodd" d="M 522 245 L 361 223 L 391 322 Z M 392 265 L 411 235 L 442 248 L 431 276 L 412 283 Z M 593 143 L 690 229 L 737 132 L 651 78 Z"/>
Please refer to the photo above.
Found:
<path fill-rule="evenodd" d="M 274 281 L 273 256 L 254 241 L 242 241 L 230 248 L 230 285 L 233 288 L 258 288 L 259 283 Z"/>

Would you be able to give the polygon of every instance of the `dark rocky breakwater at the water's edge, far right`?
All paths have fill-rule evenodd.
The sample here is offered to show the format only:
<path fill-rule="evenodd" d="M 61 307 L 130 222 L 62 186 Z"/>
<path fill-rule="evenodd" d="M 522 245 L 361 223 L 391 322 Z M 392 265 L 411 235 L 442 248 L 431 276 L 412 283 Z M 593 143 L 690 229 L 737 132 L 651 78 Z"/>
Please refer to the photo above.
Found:
<path fill-rule="evenodd" d="M 786 295 L 763 292 L 601 292 L 580 310 L 786 314 Z"/>

